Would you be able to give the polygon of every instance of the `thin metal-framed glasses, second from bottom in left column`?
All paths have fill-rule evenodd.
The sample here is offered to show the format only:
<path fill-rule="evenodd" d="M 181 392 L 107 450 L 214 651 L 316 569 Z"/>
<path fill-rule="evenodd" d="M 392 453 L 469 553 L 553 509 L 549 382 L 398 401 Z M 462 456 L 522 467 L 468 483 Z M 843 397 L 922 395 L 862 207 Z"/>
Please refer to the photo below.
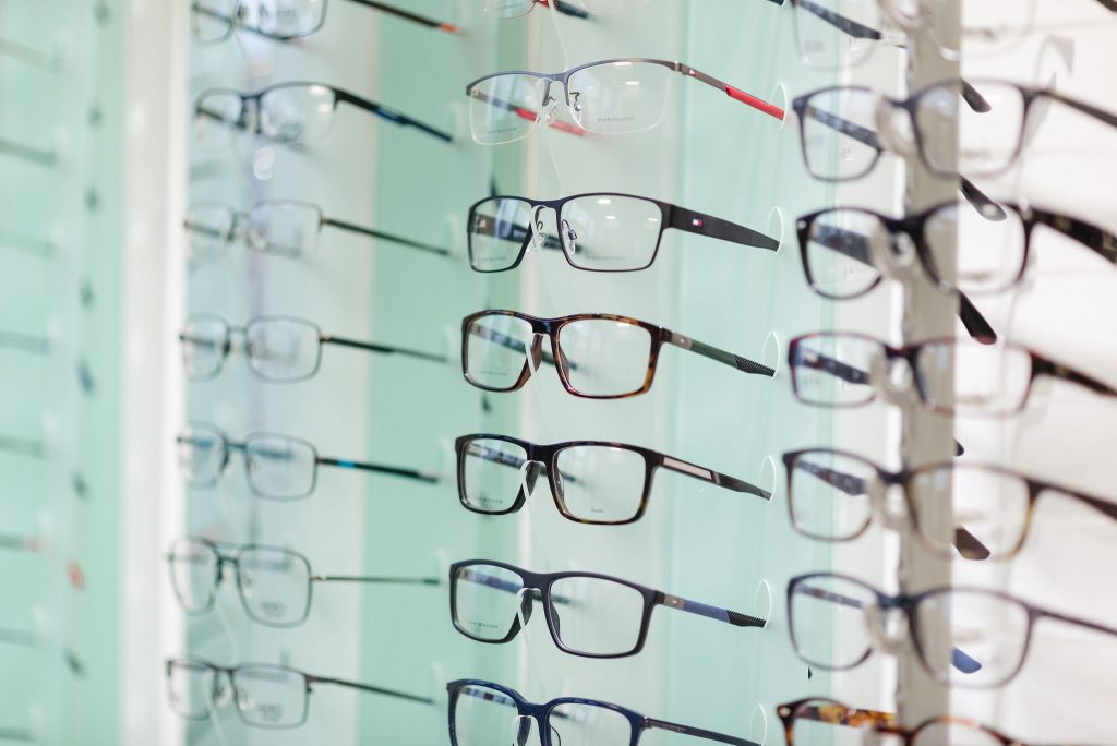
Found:
<path fill-rule="evenodd" d="M 217 601 L 226 570 L 248 616 L 265 627 L 297 627 L 311 614 L 315 583 L 438 585 L 437 577 L 316 575 L 298 552 L 258 544 L 218 545 L 192 536 L 178 539 L 166 554 L 171 587 L 188 614 L 204 614 Z"/>

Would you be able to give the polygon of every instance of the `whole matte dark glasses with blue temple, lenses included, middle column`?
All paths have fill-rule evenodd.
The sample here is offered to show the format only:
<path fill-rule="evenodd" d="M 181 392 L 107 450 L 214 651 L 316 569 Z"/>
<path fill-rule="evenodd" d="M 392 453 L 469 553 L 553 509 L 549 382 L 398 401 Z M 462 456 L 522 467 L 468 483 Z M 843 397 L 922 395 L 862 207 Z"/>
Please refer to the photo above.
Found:
<path fill-rule="evenodd" d="M 543 604 L 551 639 L 560 650 L 585 658 L 624 658 L 643 649 L 651 612 L 667 606 L 733 624 L 765 620 L 668 595 L 595 573 L 533 573 L 515 565 L 469 560 L 450 565 L 454 627 L 471 640 L 513 640 Z"/>

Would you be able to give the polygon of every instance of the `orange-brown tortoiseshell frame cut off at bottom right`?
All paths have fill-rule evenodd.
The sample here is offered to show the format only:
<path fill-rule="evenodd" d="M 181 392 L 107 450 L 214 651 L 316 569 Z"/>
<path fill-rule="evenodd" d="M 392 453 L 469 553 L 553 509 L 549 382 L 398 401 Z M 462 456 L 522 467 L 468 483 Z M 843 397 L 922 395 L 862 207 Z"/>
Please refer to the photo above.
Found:
<path fill-rule="evenodd" d="M 914 728 L 905 728 L 896 723 L 896 715 L 892 712 L 881 712 L 878 710 L 862 710 L 849 707 L 833 699 L 821 697 L 809 697 L 786 705 L 776 707 L 776 715 L 783 721 L 783 731 L 787 739 L 787 746 L 795 746 L 795 721 L 814 720 L 829 725 L 846 726 L 849 728 L 868 728 L 873 733 L 896 736 L 900 739 L 901 746 L 923 746 L 919 735 L 935 726 L 948 725 L 961 728 L 968 728 L 990 736 L 1004 746 L 1027 746 L 1023 742 L 1010 738 L 980 723 L 966 720 L 964 718 L 943 716 L 924 720 Z M 936 744 L 939 742 L 935 742 Z M 800 744 L 799 746 L 812 746 L 811 744 Z M 928 744 L 928 746 L 930 746 Z"/>

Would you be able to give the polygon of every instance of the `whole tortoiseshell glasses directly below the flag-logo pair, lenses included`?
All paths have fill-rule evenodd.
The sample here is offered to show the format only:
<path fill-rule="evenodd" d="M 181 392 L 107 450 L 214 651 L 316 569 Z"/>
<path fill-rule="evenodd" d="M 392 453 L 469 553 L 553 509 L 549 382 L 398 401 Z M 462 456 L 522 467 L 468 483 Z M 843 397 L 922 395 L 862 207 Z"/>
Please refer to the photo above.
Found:
<path fill-rule="evenodd" d="M 627 316 L 577 314 L 538 318 L 515 310 L 483 310 L 462 322 L 461 369 L 486 391 L 516 391 L 538 369 L 543 337 L 567 392 L 585 399 L 622 399 L 651 389 L 663 344 L 689 350 L 738 371 L 772 377 L 775 371 L 724 350 Z"/>

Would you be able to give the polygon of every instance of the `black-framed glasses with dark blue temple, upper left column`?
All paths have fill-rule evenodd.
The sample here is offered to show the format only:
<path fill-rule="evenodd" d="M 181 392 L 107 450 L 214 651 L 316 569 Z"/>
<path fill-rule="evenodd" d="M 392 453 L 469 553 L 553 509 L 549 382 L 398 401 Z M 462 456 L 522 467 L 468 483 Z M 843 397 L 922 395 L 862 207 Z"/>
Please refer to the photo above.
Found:
<path fill-rule="evenodd" d="M 451 135 L 429 124 L 321 83 L 280 83 L 255 93 L 211 88 L 194 104 L 195 136 L 200 145 L 210 150 L 228 146 L 238 132 L 302 147 L 330 134 L 338 104 L 351 104 L 448 143 L 454 141 Z"/>

